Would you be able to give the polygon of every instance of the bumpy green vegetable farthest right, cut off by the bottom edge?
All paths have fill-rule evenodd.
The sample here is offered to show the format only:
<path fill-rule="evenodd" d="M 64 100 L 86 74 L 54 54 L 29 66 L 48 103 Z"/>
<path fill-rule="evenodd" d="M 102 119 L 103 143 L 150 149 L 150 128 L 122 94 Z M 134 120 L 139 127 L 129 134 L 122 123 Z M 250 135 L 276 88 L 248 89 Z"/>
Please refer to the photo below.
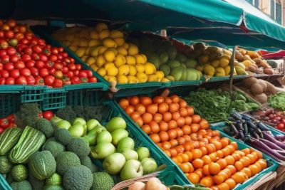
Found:
<path fill-rule="evenodd" d="M 113 176 L 101 171 L 93 174 L 93 185 L 90 190 L 110 190 L 114 185 Z"/>

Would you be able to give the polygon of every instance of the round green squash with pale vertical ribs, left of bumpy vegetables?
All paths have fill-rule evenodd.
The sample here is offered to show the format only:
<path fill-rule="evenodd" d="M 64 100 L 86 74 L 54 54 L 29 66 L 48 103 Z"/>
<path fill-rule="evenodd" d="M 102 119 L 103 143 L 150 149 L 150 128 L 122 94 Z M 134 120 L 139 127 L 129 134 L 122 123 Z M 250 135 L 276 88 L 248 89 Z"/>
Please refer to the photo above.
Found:
<path fill-rule="evenodd" d="M 38 180 L 43 180 L 56 172 L 56 159 L 47 150 L 35 152 L 28 160 L 28 169 Z"/>

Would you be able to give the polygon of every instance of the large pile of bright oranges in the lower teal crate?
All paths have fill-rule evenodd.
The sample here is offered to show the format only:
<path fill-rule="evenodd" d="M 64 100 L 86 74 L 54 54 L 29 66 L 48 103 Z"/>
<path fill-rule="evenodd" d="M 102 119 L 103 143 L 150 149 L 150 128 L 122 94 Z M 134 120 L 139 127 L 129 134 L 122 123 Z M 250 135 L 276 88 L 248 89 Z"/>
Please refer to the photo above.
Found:
<path fill-rule="evenodd" d="M 193 184 L 234 189 L 267 167 L 261 152 L 239 150 L 237 142 L 209 129 L 207 120 L 177 95 L 133 96 L 119 105 Z"/>

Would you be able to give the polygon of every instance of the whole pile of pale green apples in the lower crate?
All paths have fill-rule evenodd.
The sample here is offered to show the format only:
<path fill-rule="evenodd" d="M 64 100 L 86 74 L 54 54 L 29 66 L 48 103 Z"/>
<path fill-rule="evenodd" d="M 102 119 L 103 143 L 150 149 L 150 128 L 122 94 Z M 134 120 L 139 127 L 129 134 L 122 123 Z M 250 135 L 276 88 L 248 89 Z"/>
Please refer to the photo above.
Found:
<path fill-rule="evenodd" d="M 121 180 L 128 180 L 157 171 L 155 159 L 150 157 L 147 147 L 135 150 L 135 141 L 129 137 L 127 124 L 122 117 L 113 117 L 103 127 L 98 120 L 86 122 L 81 117 L 73 122 L 53 117 L 57 127 L 65 128 L 73 137 L 83 137 L 89 142 L 90 157 L 101 159 L 103 169 L 109 174 L 120 174 Z"/>

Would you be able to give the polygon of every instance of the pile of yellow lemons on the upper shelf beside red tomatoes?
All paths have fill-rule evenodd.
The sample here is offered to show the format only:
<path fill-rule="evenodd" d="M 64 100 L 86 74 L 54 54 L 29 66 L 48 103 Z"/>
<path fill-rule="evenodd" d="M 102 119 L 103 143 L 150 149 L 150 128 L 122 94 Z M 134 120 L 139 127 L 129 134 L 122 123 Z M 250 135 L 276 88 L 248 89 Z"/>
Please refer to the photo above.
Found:
<path fill-rule="evenodd" d="M 139 52 L 138 46 L 125 41 L 122 31 L 110 31 L 105 23 L 98 23 L 95 28 L 64 28 L 53 33 L 53 38 L 68 46 L 109 82 L 169 81 L 161 70 L 147 61 L 145 54 Z"/>

